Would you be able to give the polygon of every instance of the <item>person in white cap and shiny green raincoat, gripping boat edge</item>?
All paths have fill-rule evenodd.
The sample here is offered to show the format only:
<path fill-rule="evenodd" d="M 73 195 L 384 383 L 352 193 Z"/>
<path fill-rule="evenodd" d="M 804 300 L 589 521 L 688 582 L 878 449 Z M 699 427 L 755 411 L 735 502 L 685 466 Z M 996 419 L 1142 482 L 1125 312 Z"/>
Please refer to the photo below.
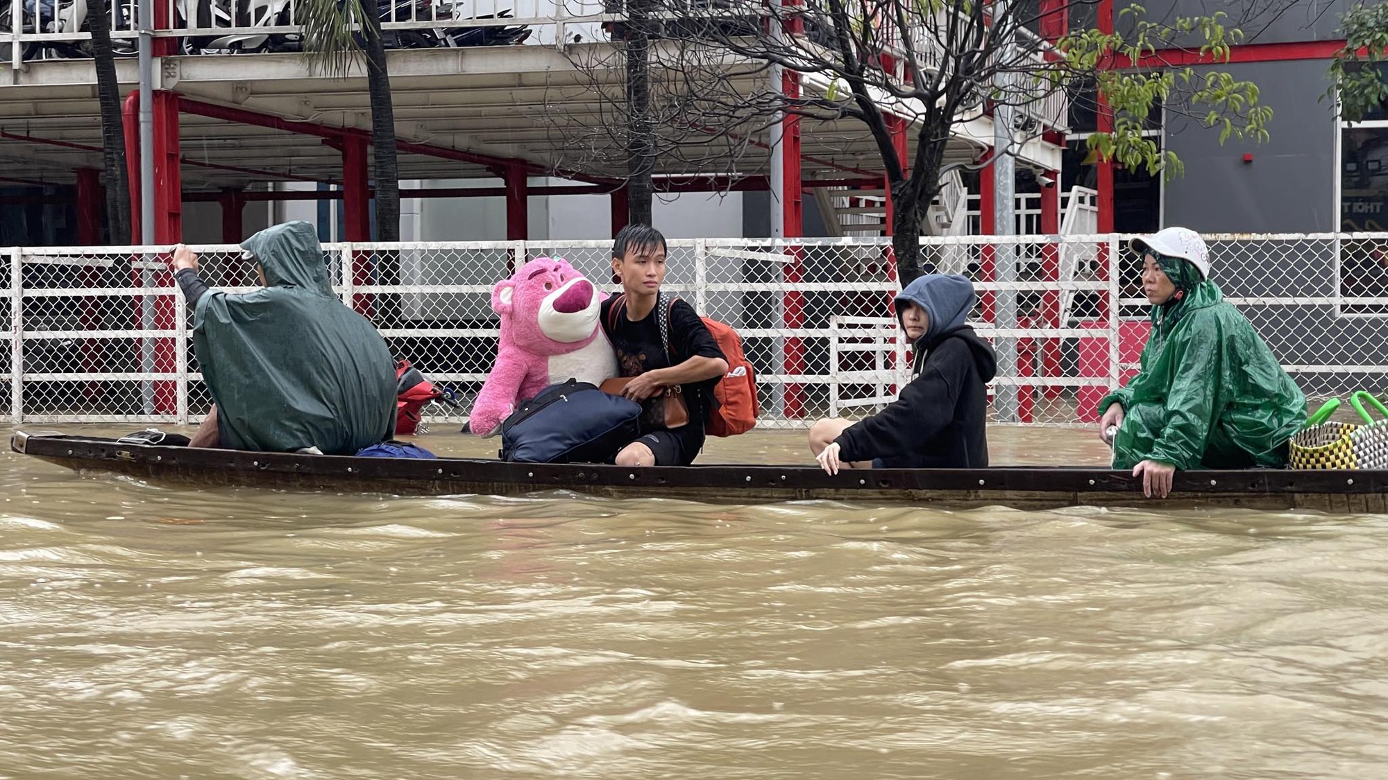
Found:
<path fill-rule="evenodd" d="M 1220 289 L 1209 248 L 1188 228 L 1133 240 L 1152 333 L 1141 372 L 1099 401 L 1113 468 L 1165 498 L 1176 469 L 1283 468 L 1306 422 L 1306 396 Z M 1117 432 L 1109 437 L 1109 429 Z"/>

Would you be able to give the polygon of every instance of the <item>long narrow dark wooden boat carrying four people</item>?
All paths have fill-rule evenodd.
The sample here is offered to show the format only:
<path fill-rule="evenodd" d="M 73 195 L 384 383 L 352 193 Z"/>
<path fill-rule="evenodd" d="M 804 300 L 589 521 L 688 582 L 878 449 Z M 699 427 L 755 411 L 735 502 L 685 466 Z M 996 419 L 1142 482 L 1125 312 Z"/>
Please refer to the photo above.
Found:
<path fill-rule="evenodd" d="M 350 458 L 121 444 L 114 439 L 17 432 L 10 448 L 78 472 L 153 483 L 400 495 L 505 495 L 572 490 L 616 498 L 711 502 L 837 500 L 869 504 L 1055 508 L 1246 507 L 1388 512 L 1388 470 L 1177 472 L 1166 500 L 1142 497 L 1127 472 L 1091 468 L 872 469 L 829 476 L 819 468 L 695 465 L 623 468 L 441 458 Z"/>

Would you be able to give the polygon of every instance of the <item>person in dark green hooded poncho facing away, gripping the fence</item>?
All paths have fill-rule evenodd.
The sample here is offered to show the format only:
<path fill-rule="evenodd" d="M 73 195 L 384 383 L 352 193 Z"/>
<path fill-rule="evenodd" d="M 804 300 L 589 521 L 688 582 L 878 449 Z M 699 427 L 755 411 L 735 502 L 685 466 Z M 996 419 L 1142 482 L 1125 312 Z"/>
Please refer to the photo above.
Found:
<path fill-rule="evenodd" d="M 394 359 L 333 294 L 314 226 L 276 225 L 242 248 L 264 289 L 208 290 L 183 244 L 169 262 L 193 307 L 193 350 L 214 402 L 192 444 L 354 455 L 390 439 Z"/>

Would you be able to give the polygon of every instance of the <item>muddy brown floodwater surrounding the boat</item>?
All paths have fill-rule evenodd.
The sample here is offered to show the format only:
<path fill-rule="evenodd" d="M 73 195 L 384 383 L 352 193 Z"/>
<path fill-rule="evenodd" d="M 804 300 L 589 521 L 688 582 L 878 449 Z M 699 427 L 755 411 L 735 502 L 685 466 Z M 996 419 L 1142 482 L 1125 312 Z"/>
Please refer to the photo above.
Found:
<path fill-rule="evenodd" d="M 4 780 L 1388 777 L 1382 515 L 0 494 Z"/>

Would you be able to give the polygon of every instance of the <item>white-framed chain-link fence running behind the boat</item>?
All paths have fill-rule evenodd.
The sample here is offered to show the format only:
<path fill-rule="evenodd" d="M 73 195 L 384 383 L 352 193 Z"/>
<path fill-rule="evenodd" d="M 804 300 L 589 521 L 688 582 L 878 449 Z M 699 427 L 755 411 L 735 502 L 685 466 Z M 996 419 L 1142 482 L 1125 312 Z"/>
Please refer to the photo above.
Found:
<path fill-rule="evenodd" d="M 1210 236 L 1214 279 L 1313 400 L 1384 390 L 1388 235 Z M 248 290 L 235 246 L 194 247 L 203 279 Z M 167 271 L 168 247 L 6 250 L 0 401 L 19 422 L 197 422 L 211 397 L 192 322 Z M 611 241 L 328 244 L 347 305 L 397 358 L 452 389 L 459 423 L 497 348 L 491 287 L 518 262 L 562 257 L 602 289 Z M 965 273 L 973 321 L 999 354 L 994 419 L 1087 425 L 1108 387 L 1137 368 L 1146 340 L 1138 265 L 1123 236 L 960 236 L 922 240 L 927 272 Z M 758 372 L 762 426 L 879 409 L 909 380 L 890 301 L 887 239 L 669 241 L 665 289 L 738 330 Z M 12 366 L 22 366 L 15 373 Z"/>

